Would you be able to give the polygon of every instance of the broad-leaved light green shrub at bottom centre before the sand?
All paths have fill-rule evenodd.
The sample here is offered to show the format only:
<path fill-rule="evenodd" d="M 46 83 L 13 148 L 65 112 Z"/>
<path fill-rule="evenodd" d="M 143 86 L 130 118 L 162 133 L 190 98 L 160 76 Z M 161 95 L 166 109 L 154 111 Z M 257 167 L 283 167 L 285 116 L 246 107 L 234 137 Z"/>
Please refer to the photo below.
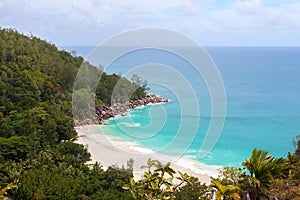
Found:
<path fill-rule="evenodd" d="M 198 179 L 180 171 L 180 176 L 175 177 L 176 172 L 170 163 L 164 165 L 157 160 L 148 159 L 147 165 L 141 168 L 147 169 L 143 179 L 135 181 L 131 178 L 130 184 L 123 186 L 130 190 L 134 199 L 206 199 L 207 187 L 201 185 Z M 173 183 L 175 179 L 176 184 Z M 194 190 L 192 194 L 188 192 L 191 189 Z"/>

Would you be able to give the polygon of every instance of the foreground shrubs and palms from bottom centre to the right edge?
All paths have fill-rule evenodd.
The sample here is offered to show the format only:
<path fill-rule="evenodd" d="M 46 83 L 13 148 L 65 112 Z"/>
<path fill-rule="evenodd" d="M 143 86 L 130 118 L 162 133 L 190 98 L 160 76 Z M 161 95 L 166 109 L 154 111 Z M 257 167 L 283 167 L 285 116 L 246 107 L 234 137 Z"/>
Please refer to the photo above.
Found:
<path fill-rule="evenodd" d="M 131 178 L 124 189 L 134 199 L 182 199 L 207 200 L 290 200 L 300 198 L 300 136 L 297 137 L 295 153 L 288 158 L 274 158 L 265 150 L 253 149 L 251 157 L 242 163 L 244 168 L 224 167 L 217 178 L 211 178 L 211 185 L 201 184 L 195 177 L 176 172 L 170 163 L 163 165 L 148 160 L 142 166 L 147 171 L 142 180 Z M 154 169 L 153 169 L 154 168 Z M 177 182 L 174 183 L 174 180 Z"/>

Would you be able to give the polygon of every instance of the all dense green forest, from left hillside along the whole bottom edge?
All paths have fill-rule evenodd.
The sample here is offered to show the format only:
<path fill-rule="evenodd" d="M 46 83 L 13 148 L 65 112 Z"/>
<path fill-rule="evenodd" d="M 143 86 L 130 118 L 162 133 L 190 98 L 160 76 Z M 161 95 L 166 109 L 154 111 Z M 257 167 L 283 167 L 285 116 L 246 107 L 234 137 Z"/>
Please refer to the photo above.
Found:
<path fill-rule="evenodd" d="M 89 84 L 74 86 L 82 64 L 102 73 L 96 104 L 113 103 L 111 94 L 119 81 L 118 101 L 145 96 L 146 84 L 137 77 L 130 81 L 106 74 L 37 37 L 0 29 L 0 198 L 188 200 L 210 199 L 213 193 L 217 199 L 300 198 L 300 137 L 287 158 L 254 149 L 243 167 L 222 169 L 211 185 L 150 159 L 139 181 L 132 179 L 132 160 L 107 170 L 101 163 L 85 164 L 90 154 L 73 143 L 77 133 L 72 115 L 73 87 L 79 87 L 79 96 L 90 90 Z M 131 96 L 122 99 L 124 91 Z"/>

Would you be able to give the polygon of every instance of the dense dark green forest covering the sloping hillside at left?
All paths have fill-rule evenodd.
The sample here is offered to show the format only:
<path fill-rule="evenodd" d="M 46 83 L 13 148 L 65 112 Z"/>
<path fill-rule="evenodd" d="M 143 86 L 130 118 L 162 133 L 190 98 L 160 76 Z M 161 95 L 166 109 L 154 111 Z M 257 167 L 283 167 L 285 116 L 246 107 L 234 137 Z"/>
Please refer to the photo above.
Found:
<path fill-rule="evenodd" d="M 72 91 L 83 62 L 82 57 L 34 36 L 0 29 L 0 198 L 132 199 L 122 189 L 132 177 L 131 170 L 87 166 L 90 154 L 73 143 L 77 133 Z M 94 88 L 96 103 L 110 104 L 119 80 L 122 89 L 132 91 L 128 98 L 145 96 L 145 86 L 137 85 L 140 82 L 108 75 L 87 62 L 82 69 L 102 73 Z M 79 79 L 81 85 L 75 85 L 83 95 L 95 80 L 84 81 Z M 88 103 L 83 102 L 83 107 L 90 108 Z"/>

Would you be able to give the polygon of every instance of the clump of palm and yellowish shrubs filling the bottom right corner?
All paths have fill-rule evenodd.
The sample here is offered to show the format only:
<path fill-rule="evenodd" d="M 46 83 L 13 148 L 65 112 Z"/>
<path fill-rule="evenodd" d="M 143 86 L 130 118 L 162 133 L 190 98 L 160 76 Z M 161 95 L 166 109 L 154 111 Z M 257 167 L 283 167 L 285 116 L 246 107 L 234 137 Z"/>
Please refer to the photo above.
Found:
<path fill-rule="evenodd" d="M 289 153 L 287 159 L 253 149 L 251 157 L 242 163 L 243 169 L 224 168 L 218 178 L 212 179 L 212 186 L 225 199 L 299 199 L 299 138 L 297 143 L 295 153 Z"/>

